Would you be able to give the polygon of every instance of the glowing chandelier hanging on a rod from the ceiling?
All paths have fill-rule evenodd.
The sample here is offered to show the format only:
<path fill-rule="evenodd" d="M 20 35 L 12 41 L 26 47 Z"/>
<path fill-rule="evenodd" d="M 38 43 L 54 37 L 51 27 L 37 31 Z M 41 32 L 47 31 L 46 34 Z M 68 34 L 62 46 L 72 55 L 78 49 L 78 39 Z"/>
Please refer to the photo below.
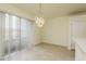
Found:
<path fill-rule="evenodd" d="M 38 27 L 42 27 L 44 24 L 45 24 L 45 20 L 44 20 L 42 12 L 41 12 L 41 3 L 39 3 L 39 11 L 38 11 L 38 15 L 36 17 L 36 25 Z"/>

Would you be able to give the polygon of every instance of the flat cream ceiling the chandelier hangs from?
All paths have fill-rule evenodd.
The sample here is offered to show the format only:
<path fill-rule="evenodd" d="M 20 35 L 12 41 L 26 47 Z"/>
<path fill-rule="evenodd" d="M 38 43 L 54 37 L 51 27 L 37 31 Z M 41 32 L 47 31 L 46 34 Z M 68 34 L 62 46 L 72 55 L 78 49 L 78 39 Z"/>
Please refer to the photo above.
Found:
<path fill-rule="evenodd" d="M 38 3 L 16 3 L 12 4 L 33 16 L 38 14 Z M 45 18 L 64 16 L 77 12 L 86 11 L 86 3 L 42 3 L 41 11 Z"/>

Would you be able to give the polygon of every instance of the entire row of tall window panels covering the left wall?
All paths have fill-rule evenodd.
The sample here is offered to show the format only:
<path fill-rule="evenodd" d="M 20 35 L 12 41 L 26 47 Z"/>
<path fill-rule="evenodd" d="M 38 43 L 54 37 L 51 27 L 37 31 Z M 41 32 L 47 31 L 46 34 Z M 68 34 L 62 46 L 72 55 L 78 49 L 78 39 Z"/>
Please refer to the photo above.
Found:
<path fill-rule="evenodd" d="M 29 20 L 0 13 L 0 60 L 33 44 L 33 23 Z"/>

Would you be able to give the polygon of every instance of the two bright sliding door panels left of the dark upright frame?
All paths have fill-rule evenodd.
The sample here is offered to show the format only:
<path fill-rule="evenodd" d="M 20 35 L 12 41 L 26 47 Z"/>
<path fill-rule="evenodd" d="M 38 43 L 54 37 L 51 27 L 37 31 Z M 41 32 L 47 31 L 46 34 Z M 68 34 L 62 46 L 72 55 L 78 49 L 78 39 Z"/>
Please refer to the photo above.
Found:
<path fill-rule="evenodd" d="M 20 49 L 20 17 L 5 14 L 4 59 Z"/>

